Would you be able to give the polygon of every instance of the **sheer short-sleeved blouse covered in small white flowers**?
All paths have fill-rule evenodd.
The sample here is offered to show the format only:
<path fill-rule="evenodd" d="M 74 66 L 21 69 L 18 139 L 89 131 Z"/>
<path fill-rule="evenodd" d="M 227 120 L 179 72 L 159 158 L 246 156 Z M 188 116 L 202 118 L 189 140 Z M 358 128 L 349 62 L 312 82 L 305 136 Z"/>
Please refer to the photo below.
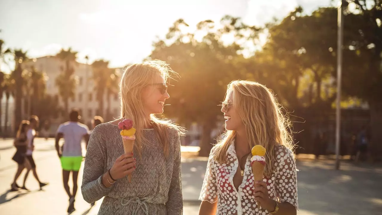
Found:
<path fill-rule="evenodd" d="M 285 146 L 279 145 L 276 150 L 275 171 L 270 177 L 264 177 L 267 182 L 269 198 L 278 202 L 288 202 L 298 210 L 297 174 L 293 153 Z M 233 185 L 233 176 L 238 169 L 238 159 L 234 142 L 227 150 L 227 163 L 220 164 L 214 160 L 215 147 L 212 148 L 207 163 L 202 191 L 199 200 L 217 203 L 218 215 L 267 215 L 264 208 L 257 208 L 254 200 L 254 177 L 250 166 L 251 156 L 248 156 L 243 182 L 238 190 Z"/>

